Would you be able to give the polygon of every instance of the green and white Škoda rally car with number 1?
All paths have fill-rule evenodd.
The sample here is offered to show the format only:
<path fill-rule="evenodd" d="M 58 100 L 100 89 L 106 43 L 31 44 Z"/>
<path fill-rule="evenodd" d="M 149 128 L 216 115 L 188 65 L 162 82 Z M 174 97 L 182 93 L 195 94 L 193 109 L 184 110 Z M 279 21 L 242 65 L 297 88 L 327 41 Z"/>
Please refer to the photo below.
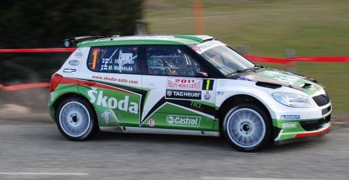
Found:
<path fill-rule="evenodd" d="M 224 136 L 239 151 L 325 135 L 332 112 L 317 81 L 191 35 L 82 41 L 52 75 L 48 105 L 68 140 L 98 130 Z"/>

